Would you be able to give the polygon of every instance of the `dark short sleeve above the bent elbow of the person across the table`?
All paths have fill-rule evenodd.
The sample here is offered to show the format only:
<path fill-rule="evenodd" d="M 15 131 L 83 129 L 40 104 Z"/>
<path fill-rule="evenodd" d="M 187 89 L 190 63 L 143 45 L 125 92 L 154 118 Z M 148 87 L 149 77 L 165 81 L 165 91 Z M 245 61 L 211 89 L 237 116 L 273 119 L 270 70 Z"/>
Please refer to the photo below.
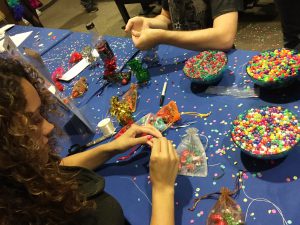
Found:
<path fill-rule="evenodd" d="M 236 11 L 238 11 L 236 0 L 211 0 L 211 13 L 213 19 L 225 13 Z"/>

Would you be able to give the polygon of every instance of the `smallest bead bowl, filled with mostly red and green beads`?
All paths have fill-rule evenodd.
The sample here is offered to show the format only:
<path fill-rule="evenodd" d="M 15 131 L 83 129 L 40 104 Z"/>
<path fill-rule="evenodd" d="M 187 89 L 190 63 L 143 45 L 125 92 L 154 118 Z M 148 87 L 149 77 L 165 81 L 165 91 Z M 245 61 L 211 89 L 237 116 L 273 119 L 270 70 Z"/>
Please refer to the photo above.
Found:
<path fill-rule="evenodd" d="M 222 79 L 227 68 L 227 56 L 222 51 L 208 50 L 189 58 L 183 72 L 192 82 L 202 85 L 212 85 Z"/>

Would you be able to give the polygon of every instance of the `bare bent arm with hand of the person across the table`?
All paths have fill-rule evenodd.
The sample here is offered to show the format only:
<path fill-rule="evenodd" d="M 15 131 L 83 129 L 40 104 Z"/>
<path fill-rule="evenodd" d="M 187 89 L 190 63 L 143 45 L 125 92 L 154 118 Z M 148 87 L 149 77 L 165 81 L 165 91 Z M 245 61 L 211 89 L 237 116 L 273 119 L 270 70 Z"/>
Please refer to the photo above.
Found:
<path fill-rule="evenodd" d="M 214 19 L 213 27 L 194 31 L 144 29 L 132 31 L 134 44 L 141 50 L 158 44 L 200 51 L 202 49 L 227 50 L 232 48 L 237 32 L 238 13 L 229 12 Z"/>

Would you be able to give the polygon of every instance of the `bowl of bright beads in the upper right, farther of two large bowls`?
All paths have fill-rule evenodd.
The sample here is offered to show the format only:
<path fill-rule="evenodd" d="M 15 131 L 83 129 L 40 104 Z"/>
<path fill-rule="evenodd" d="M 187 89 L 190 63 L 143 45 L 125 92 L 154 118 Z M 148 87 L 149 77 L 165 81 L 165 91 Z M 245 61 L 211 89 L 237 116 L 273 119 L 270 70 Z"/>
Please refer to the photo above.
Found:
<path fill-rule="evenodd" d="M 284 88 L 300 75 L 300 53 L 286 48 L 263 51 L 252 57 L 246 70 L 259 86 Z"/>

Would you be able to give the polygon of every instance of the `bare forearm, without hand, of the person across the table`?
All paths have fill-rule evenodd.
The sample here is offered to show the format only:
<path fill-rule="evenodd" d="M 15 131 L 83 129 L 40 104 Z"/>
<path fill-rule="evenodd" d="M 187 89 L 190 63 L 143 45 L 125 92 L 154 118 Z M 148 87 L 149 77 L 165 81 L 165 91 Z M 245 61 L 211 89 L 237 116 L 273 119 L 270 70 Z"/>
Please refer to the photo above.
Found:
<path fill-rule="evenodd" d="M 195 31 L 166 31 L 160 30 L 158 39 L 161 44 L 174 45 L 180 48 L 200 51 L 202 49 L 230 49 L 233 37 L 224 35 L 214 28 Z"/>

